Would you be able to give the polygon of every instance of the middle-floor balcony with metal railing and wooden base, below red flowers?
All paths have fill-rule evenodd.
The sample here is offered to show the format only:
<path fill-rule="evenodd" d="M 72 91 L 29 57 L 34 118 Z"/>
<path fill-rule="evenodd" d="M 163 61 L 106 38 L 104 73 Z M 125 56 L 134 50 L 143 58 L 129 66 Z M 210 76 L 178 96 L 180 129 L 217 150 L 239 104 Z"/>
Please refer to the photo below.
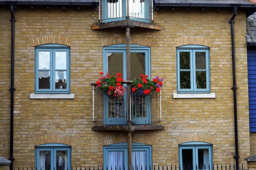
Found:
<path fill-rule="evenodd" d="M 138 96 L 127 90 L 124 96 L 110 97 L 92 85 L 92 130 L 162 130 L 161 92 Z M 127 87 L 124 85 L 124 87 Z M 130 113 L 128 114 L 128 107 Z M 130 116 L 128 118 L 128 116 Z M 128 120 L 131 126 L 128 126 Z"/>

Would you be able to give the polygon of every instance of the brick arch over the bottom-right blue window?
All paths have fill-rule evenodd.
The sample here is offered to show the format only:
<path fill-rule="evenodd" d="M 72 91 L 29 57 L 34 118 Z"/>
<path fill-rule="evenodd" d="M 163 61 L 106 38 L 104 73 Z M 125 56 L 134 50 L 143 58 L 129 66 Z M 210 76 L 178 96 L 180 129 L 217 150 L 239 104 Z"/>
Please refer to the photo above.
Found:
<path fill-rule="evenodd" d="M 175 137 L 175 140 L 178 144 L 186 142 L 206 142 L 213 144 L 214 137 L 210 134 L 205 133 L 188 133 L 184 135 L 179 135 Z"/>

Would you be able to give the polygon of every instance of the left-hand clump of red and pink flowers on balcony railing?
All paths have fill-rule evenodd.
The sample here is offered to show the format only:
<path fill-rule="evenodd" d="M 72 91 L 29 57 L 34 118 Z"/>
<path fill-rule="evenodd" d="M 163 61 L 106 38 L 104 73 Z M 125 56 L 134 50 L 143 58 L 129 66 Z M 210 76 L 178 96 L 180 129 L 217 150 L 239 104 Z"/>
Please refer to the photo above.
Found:
<path fill-rule="evenodd" d="M 117 73 L 117 76 L 110 76 L 109 74 L 103 76 L 103 74 L 103 72 L 100 72 L 102 77 L 99 79 L 99 81 L 96 82 L 96 87 L 101 89 L 108 96 L 123 96 L 126 89 L 121 83 L 121 81 L 124 81 L 124 79 L 121 78 L 122 74 Z"/>

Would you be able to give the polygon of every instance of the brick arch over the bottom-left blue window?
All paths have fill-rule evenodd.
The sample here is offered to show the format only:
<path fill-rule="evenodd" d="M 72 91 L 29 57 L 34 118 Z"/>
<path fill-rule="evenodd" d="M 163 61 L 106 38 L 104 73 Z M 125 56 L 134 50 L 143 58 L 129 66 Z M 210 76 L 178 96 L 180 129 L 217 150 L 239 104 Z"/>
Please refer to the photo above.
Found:
<path fill-rule="evenodd" d="M 35 146 L 46 143 L 61 143 L 71 146 L 72 142 L 73 139 L 71 136 L 61 134 L 45 134 L 34 138 Z"/>

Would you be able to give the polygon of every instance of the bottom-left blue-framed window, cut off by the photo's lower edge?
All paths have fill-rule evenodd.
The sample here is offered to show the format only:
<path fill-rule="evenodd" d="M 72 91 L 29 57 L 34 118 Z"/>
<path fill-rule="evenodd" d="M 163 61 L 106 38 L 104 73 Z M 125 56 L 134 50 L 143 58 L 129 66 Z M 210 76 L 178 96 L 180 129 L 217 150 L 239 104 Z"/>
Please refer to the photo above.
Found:
<path fill-rule="evenodd" d="M 37 170 L 71 170 L 71 147 L 49 143 L 36 146 Z"/>

